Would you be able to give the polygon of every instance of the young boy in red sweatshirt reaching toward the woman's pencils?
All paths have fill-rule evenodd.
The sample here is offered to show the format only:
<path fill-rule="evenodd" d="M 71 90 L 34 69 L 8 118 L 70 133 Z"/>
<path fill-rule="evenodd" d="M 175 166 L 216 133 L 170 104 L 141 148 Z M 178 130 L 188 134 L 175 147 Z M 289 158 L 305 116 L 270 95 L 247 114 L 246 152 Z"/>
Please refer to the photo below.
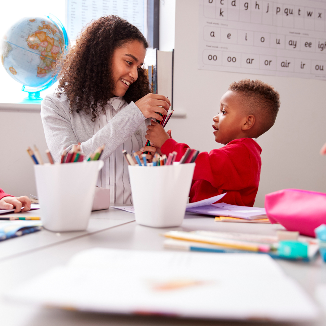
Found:
<path fill-rule="evenodd" d="M 190 190 L 190 202 L 227 193 L 221 201 L 253 206 L 258 191 L 261 148 L 255 141 L 275 122 L 279 94 L 259 80 L 234 82 L 220 100 L 220 112 L 213 118 L 215 141 L 225 146 L 197 156 Z M 152 121 L 146 139 L 162 154 L 176 151 L 176 161 L 188 145 L 177 143 L 162 126 Z"/>

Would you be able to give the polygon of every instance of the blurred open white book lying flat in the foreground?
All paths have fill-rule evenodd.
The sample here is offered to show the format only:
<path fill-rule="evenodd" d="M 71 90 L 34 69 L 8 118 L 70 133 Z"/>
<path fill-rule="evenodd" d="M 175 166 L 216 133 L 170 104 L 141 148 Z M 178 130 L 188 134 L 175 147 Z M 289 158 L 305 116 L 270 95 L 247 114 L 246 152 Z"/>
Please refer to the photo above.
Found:
<path fill-rule="evenodd" d="M 304 322 L 318 316 L 298 284 L 263 254 L 94 248 L 19 284 L 6 299 L 187 318 Z"/>

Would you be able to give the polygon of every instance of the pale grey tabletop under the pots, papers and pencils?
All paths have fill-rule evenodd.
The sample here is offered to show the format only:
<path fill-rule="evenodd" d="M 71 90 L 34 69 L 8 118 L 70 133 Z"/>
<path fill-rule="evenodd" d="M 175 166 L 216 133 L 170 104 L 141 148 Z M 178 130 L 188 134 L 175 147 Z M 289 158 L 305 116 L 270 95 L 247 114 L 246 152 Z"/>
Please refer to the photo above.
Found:
<path fill-rule="evenodd" d="M 233 231 L 257 234 L 275 234 L 276 229 L 282 229 L 280 225 L 271 224 L 245 224 L 232 222 L 215 222 L 214 218 L 200 217 L 197 215 L 186 215 L 181 227 L 155 229 L 137 225 L 135 222 L 126 222 L 133 219 L 131 213 L 109 209 L 93 213 L 102 216 L 105 220 L 124 220 L 124 224 L 111 226 L 89 232 L 81 235 L 70 236 L 67 240 L 51 242 L 47 245 L 35 246 L 35 239 L 41 237 L 42 232 L 25 235 L 21 238 L 11 239 L 0 243 L 0 252 L 2 245 L 9 243 L 17 246 L 15 242 L 22 241 L 25 238 L 25 244 L 32 243 L 32 250 L 22 250 L 19 254 L 8 255 L 0 261 L 0 295 L 7 289 L 13 287 L 18 282 L 24 282 L 31 277 L 37 276 L 56 265 L 66 264 L 72 255 L 81 250 L 94 247 L 121 248 L 121 249 L 140 249 L 140 250 L 163 250 L 163 240 L 160 233 L 166 230 L 219 230 Z M 55 235 L 55 234 L 54 234 Z M 51 234 L 48 235 L 51 237 Z M 70 237 L 69 237 L 70 236 Z M 43 236 L 42 236 L 43 237 Z M 311 263 L 277 260 L 286 274 L 296 279 L 301 286 L 314 299 L 314 291 L 318 284 L 326 283 L 326 264 L 317 259 Z M 131 271 L 132 273 L 132 271 Z M 96 276 L 96 275 L 95 275 Z M 28 304 L 17 304 L 0 301 L 0 316 L 3 325 L 6 326 L 100 326 L 100 325 L 145 325 L 145 326 L 165 326 L 165 325 L 240 325 L 240 322 L 217 322 L 203 320 L 186 319 L 167 319 L 160 317 L 140 317 L 140 316 L 116 316 L 105 314 L 91 314 L 77 311 L 65 311 L 53 308 L 43 308 L 29 306 Z M 260 323 L 258 323 L 260 324 Z M 325 325 L 326 318 L 321 315 L 318 322 L 309 325 Z M 256 323 L 255 323 L 256 325 Z M 264 323 L 269 325 L 269 323 Z M 273 324 L 274 325 L 274 324 Z M 278 324 L 283 325 L 283 324 Z M 286 324 L 289 325 L 289 324 Z M 302 325 L 300 323 L 291 325 Z M 305 323 L 305 325 L 307 325 Z"/>

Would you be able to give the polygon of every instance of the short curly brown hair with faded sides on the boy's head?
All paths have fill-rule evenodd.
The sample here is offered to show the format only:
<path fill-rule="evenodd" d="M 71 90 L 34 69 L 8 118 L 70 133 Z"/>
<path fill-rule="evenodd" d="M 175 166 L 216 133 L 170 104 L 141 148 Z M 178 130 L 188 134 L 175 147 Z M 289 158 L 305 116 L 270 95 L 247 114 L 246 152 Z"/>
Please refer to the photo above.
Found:
<path fill-rule="evenodd" d="M 229 91 L 242 92 L 246 97 L 245 104 L 248 107 L 248 115 L 255 115 L 260 125 L 257 137 L 274 125 L 280 108 L 280 95 L 273 86 L 258 79 L 255 81 L 243 79 L 230 84 Z"/>

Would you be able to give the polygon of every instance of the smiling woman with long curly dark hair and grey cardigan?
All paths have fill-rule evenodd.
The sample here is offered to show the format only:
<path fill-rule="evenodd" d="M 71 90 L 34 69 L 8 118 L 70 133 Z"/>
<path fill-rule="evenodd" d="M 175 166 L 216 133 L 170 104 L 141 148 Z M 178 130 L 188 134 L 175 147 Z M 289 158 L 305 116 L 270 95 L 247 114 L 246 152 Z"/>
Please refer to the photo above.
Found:
<path fill-rule="evenodd" d="M 162 120 L 156 112 L 170 108 L 168 98 L 150 93 L 142 68 L 147 47 L 137 27 L 117 16 L 101 17 L 60 59 L 59 92 L 41 103 L 45 138 L 56 161 L 78 142 L 84 155 L 105 144 L 97 185 L 110 189 L 114 203 L 132 203 L 122 151 L 139 152 L 150 118 Z M 156 148 L 143 151 L 154 155 Z"/>

